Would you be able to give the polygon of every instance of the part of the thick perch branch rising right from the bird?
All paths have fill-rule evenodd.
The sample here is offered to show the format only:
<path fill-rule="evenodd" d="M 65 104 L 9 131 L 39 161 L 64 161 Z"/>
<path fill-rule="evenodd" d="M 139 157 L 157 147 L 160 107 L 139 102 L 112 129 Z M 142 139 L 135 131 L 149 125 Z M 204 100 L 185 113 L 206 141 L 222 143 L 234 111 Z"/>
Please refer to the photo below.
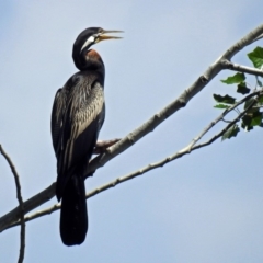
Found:
<path fill-rule="evenodd" d="M 103 167 L 107 161 L 126 150 L 148 133 L 152 132 L 159 124 L 161 124 L 173 113 L 184 107 L 193 96 L 202 91 L 204 87 L 206 87 L 208 82 L 214 79 L 216 75 L 225 69 L 221 61 L 226 59 L 230 60 L 243 47 L 250 45 L 251 41 L 254 41 L 262 34 L 263 24 L 251 31 L 247 36 L 232 45 L 211 66 L 209 66 L 208 69 L 202 76 L 199 76 L 195 82 L 188 89 L 186 89 L 175 101 L 173 101 L 158 114 L 155 114 L 148 122 L 136 128 L 128 136 L 112 146 L 104 155 L 94 158 L 89 163 L 89 165 L 87 165 L 87 174 L 93 173 L 98 168 Z"/>

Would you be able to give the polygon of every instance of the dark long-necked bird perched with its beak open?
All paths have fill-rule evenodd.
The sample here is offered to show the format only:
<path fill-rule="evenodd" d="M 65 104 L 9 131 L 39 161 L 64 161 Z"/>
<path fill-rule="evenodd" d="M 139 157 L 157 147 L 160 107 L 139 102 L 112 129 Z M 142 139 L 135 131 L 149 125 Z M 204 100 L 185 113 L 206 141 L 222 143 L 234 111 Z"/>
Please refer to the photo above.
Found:
<path fill-rule="evenodd" d="M 101 41 L 122 38 L 106 35 L 108 33 L 122 31 L 88 27 L 78 35 L 72 59 L 79 71 L 54 99 L 52 139 L 57 158 L 56 196 L 61 201 L 60 237 L 66 245 L 81 244 L 88 231 L 84 168 L 105 118 L 105 67 L 99 53 L 90 47 Z"/>

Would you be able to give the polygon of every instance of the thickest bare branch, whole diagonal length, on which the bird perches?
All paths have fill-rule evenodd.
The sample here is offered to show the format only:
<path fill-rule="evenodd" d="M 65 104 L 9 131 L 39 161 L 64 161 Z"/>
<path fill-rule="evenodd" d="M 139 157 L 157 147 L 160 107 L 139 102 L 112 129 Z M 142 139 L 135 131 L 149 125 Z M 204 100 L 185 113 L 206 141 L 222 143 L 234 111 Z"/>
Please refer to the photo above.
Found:
<path fill-rule="evenodd" d="M 225 52 L 208 69 L 201 75 L 195 82 L 186 89 L 176 100 L 170 103 L 159 113 L 155 114 L 149 121 L 128 134 L 125 138 L 110 147 L 105 153 L 95 157 L 90 163 L 87 163 L 85 174 L 93 174 L 93 172 L 103 167 L 107 161 L 125 151 L 132 145 L 137 142 L 140 138 L 152 132 L 158 125 L 165 121 L 173 113 L 184 107 L 188 101 L 194 98 L 199 91 L 202 91 L 209 81 L 218 75 L 222 69 L 222 60 L 230 60 L 238 52 L 248 46 L 251 42 L 256 39 L 263 34 L 263 24 L 250 32 L 242 39 L 232 45 L 227 52 Z M 126 180 L 125 180 L 126 181 Z M 45 195 L 46 194 L 46 195 Z M 37 201 L 34 204 L 27 206 L 27 202 L 24 203 L 24 209 L 26 213 L 44 204 L 55 195 L 55 183 L 48 188 L 44 190 L 41 194 L 35 195 L 32 199 Z M 9 214 L 0 218 L 0 231 L 7 228 L 11 222 L 19 220 L 16 208 Z"/>

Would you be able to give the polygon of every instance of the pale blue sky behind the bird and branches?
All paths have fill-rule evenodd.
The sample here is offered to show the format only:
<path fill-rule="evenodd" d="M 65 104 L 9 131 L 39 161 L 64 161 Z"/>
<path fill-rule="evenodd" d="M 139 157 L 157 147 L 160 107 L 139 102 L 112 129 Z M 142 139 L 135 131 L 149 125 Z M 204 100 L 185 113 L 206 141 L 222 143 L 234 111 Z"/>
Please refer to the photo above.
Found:
<path fill-rule="evenodd" d="M 100 139 L 110 139 L 146 122 L 262 23 L 261 5 L 256 0 L 2 1 L 0 144 L 16 165 L 23 197 L 56 179 L 50 111 L 57 89 L 77 71 L 71 48 L 82 30 L 125 31 L 124 39 L 94 46 L 106 67 Z M 256 45 L 262 41 L 233 61 L 251 66 L 245 54 Z M 184 110 L 98 170 L 87 180 L 87 191 L 185 147 L 219 114 L 213 93 L 231 93 L 219 81 L 228 75 L 220 73 Z M 92 197 L 88 237 L 80 247 L 62 245 L 59 213 L 28 222 L 25 262 L 262 262 L 261 138 L 258 128 L 218 140 Z M 0 174 L 3 215 L 18 205 L 3 158 Z M 19 228 L 1 233 L 1 262 L 16 261 L 19 235 Z"/>

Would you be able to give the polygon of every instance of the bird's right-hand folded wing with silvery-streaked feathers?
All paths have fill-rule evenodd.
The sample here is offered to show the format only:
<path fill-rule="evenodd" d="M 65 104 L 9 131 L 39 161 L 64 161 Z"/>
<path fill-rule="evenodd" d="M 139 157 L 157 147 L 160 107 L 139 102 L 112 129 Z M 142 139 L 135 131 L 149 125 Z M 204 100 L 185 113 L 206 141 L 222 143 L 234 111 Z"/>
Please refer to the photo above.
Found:
<path fill-rule="evenodd" d="M 104 115 L 103 87 L 99 82 L 91 89 L 83 89 L 83 82 L 76 84 L 68 98 L 62 133 L 59 134 L 58 192 L 64 191 L 71 175 L 69 171 L 75 167 L 82 168 L 91 158 Z"/>

